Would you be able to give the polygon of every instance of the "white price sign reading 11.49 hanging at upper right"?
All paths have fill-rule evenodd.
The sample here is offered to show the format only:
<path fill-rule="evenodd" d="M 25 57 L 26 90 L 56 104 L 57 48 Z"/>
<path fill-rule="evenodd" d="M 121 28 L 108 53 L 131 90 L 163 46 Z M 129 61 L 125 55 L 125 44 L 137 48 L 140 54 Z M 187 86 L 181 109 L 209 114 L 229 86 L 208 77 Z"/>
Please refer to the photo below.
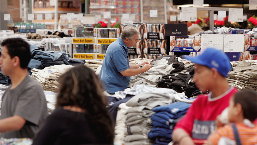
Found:
<path fill-rule="evenodd" d="M 182 21 L 196 21 L 197 20 L 196 7 L 182 7 Z"/>

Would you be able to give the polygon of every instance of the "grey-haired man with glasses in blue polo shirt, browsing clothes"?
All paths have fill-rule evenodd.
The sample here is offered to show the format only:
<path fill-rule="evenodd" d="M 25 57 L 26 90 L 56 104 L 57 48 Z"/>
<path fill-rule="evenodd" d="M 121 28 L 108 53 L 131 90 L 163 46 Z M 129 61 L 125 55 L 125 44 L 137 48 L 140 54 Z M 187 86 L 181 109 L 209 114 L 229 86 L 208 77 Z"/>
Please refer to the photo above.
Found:
<path fill-rule="evenodd" d="M 152 67 L 149 62 L 129 65 L 128 48 L 136 45 L 138 34 L 139 31 L 136 28 L 126 26 L 121 37 L 118 37 L 107 48 L 99 78 L 103 82 L 104 90 L 111 95 L 117 91 L 124 91 L 128 86 L 130 76 L 144 73 Z M 144 67 L 139 68 L 141 65 Z"/>

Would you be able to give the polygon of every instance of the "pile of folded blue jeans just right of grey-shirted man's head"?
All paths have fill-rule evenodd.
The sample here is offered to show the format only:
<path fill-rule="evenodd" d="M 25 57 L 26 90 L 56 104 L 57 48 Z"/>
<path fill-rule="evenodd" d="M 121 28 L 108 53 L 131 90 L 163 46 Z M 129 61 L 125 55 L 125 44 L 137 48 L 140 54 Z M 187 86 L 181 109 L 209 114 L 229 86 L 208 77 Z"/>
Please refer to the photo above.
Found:
<path fill-rule="evenodd" d="M 38 50 L 36 45 L 30 45 L 30 51 L 32 53 L 32 59 L 37 60 L 37 62 L 34 63 L 40 65 L 41 62 L 41 69 L 60 64 L 73 66 L 84 64 L 81 60 L 68 58 L 66 56 L 66 52 L 64 51 L 50 51 L 49 49 L 46 51 L 41 51 Z"/>

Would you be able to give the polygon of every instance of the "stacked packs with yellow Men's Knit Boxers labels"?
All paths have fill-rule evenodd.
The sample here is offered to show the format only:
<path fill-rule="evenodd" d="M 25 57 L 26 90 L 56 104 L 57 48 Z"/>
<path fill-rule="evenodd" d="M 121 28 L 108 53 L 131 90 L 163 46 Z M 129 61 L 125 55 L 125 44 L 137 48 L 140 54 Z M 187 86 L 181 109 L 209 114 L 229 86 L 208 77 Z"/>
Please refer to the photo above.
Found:
<path fill-rule="evenodd" d="M 73 36 L 73 58 L 103 60 L 108 46 L 117 40 L 118 29 L 78 26 Z"/>

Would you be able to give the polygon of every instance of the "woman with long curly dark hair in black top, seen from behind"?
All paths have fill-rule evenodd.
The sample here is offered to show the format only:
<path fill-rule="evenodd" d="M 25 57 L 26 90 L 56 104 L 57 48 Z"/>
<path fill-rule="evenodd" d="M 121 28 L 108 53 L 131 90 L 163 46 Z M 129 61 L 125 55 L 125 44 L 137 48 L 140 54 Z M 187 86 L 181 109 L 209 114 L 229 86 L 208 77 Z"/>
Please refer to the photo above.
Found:
<path fill-rule="evenodd" d="M 113 144 L 114 127 L 92 70 L 73 67 L 60 77 L 55 111 L 36 135 L 38 144 Z"/>

